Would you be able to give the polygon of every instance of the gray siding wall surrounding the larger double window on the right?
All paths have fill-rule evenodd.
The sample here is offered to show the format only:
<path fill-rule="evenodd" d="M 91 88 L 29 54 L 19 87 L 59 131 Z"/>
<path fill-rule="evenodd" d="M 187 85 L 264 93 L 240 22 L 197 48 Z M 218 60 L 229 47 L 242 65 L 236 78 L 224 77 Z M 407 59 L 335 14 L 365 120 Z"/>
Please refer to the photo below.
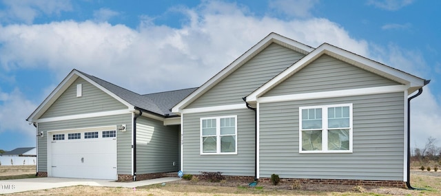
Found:
<path fill-rule="evenodd" d="M 260 104 L 260 177 L 403 180 L 404 93 Z M 353 103 L 353 153 L 298 153 L 298 108 Z"/>

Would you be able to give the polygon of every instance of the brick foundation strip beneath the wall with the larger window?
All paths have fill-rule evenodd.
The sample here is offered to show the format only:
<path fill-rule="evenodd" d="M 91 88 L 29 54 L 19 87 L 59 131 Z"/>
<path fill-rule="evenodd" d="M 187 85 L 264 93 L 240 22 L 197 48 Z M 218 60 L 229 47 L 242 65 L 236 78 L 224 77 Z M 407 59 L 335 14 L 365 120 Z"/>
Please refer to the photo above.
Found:
<path fill-rule="evenodd" d="M 260 182 L 271 183 L 271 178 L 262 177 Z M 295 182 L 298 181 L 302 184 L 342 184 L 351 186 L 387 186 L 397 188 L 407 188 L 406 182 L 392 181 L 392 180 L 363 180 L 363 179 L 295 179 L 295 178 L 281 178 L 280 182 Z"/>

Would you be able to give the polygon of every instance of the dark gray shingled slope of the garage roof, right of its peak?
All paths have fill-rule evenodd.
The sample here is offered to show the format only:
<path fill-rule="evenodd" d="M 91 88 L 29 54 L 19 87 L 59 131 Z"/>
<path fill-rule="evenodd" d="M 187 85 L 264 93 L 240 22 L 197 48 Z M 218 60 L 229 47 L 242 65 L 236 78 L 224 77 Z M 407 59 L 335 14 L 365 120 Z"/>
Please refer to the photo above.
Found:
<path fill-rule="evenodd" d="M 116 96 L 119 96 L 123 100 L 129 102 L 131 105 L 134 105 L 134 107 L 139 107 L 140 109 L 144 109 L 145 111 L 150 111 L 152 113 L 156 113 L 165 117 L 174 116 L 170 109 L 172 109 L 174 105 L 176 105 L 178 102 L 183 100 L 185 97 L 187 97 L 189 94 L 197 89 L 180 89 L 175 91 L 165 91 L 154 94 L 140 95 L 123 87 L 119 87 L 117 85 L 109 83 L 100 78 L 96 78 L 95 76 L 85 74 L 84 72 L 80 73 L 90 78 L 95 83 L 101 85 L 105 89 L 111 91 Z"/>

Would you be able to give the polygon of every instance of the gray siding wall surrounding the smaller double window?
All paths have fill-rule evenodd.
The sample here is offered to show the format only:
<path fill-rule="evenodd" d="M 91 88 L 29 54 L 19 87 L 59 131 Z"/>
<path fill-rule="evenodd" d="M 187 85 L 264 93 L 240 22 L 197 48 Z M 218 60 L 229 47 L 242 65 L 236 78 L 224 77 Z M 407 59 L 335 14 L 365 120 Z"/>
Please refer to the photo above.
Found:
<path fill-rule="evenodd" d="M 201 155 L 200 118 L 237 115 L 237 155 Z M 254 176 L 254 111 L 239 109 L 183 115 L 183 172 L 220 171 L 223 175 Z"/>

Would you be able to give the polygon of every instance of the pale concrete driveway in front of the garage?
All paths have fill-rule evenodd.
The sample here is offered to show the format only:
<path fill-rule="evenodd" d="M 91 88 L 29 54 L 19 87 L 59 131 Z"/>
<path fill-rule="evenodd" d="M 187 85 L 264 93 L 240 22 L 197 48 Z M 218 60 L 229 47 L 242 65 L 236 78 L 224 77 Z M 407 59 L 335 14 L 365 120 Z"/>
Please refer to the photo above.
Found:
<path fill-rule="evenodd" d="M 42 190 L 49 188 L 60 188 L 65 186 L 108 186 L 134 188 L 150 184 L 162 184 L 178 180 L 178 177 L 163 177 L 158 179 L 147 179 L 137 182 L 115 182 L 108 179 L 78 179 L 61 177 L 36 177 L 25 179 L 0 180 L 0 195 L 6 193 L 19 193 L 29 190 Z"/>

